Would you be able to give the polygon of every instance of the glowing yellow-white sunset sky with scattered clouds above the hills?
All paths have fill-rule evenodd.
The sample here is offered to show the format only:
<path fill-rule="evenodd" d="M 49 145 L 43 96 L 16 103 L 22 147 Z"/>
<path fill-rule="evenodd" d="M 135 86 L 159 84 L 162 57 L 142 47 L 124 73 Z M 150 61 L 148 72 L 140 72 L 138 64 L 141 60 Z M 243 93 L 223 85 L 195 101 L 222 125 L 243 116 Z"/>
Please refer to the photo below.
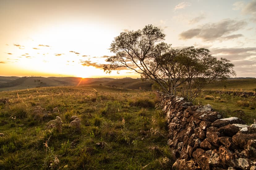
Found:
<path fill-rule="evenodd" d="M 1 0 L 0 23 L 0 76 L 140 77 L 102 67 L 114 37 L 152 24 L 256 77 L 256 0 Z"/>

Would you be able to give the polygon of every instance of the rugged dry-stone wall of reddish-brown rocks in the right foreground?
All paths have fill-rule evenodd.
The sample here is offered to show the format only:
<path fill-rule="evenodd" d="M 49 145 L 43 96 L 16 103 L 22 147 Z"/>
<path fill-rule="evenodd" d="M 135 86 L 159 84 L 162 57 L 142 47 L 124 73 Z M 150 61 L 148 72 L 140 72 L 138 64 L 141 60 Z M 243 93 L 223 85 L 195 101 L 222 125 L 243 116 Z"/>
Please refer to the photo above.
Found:
<path fill-rule="evenodd" d="M 169 124 L 173 168 L 256 170 L 256 124 L 225 118 L 211 106 L 193 106 L 177 96 L 158 94 Z"/>

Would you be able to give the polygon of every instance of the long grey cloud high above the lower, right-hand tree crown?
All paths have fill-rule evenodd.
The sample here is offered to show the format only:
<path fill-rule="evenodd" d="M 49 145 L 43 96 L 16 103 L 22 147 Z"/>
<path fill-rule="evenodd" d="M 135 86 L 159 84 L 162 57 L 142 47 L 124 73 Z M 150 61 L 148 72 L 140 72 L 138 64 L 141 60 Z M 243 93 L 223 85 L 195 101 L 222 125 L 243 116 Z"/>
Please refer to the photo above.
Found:
<path fill-rule="evenodd" d="M 203 41 L 214 41 L 222 39 L 232 39 L 241 37 L 242 34 L 228 35 L 240 30 L 247 25 L 245 21 L 236 21 L 232 19 L 223 19 L 216 23 L 207 23 L 199 25 L 197 28 L 183 31 L 179 34 L 180 39 L 201 38 Z"/>

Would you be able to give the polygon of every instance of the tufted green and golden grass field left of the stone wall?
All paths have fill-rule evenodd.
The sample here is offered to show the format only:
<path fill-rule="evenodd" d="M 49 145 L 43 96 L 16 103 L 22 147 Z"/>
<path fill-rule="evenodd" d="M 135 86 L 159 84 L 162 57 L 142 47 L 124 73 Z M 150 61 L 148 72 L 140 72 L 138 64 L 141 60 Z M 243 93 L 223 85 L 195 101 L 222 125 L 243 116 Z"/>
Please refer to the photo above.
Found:
<path fill-rule="evenodd" d="M 41 87 L 2 91 L 3 98 L 0 169 L 171 168 L 167 126 L 153 92 Z"/>

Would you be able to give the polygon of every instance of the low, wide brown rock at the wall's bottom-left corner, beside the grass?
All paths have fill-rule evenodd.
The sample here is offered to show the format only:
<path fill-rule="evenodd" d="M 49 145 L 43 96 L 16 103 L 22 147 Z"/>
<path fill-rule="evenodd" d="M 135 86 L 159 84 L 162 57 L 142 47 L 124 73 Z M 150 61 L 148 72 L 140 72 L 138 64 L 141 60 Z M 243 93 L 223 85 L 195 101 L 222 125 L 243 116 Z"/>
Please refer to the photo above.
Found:
<path fill-rule="evenodd" d="M 185 159 L 178 159 L 174 162 L 173 168 L 179 170 L 201 170 L 201 168 L 195 163 L 193 159 L 186 161 Z"/>

